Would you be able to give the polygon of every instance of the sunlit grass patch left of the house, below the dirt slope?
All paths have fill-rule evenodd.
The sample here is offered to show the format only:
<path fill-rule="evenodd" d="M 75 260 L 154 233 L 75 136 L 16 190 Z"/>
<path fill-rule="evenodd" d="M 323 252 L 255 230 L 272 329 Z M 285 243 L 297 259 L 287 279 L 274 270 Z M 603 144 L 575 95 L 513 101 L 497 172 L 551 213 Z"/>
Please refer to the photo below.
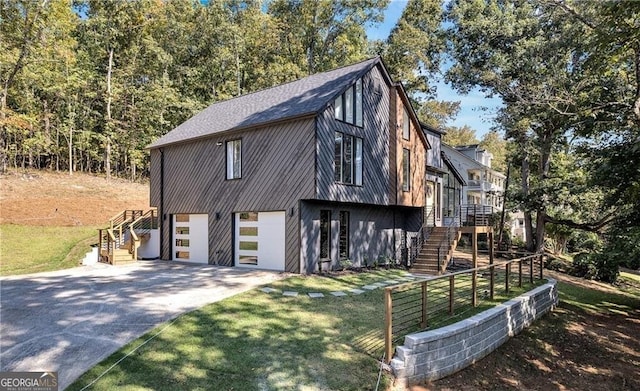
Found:
<path fill-rule="evenodd" d="M 95 227 L 0 225 L 0 275 L 77 266 L 97 237 Z"/>

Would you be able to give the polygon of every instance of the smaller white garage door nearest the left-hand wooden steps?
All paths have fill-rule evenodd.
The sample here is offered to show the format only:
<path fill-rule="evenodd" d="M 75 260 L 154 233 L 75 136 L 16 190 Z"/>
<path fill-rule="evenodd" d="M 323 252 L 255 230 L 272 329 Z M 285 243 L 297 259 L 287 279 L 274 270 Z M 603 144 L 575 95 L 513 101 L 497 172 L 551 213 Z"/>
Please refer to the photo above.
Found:
<path fill-rule="evenodd" d="M 173 259 L 209 263 L 208 215 L 173 215 Z"/>

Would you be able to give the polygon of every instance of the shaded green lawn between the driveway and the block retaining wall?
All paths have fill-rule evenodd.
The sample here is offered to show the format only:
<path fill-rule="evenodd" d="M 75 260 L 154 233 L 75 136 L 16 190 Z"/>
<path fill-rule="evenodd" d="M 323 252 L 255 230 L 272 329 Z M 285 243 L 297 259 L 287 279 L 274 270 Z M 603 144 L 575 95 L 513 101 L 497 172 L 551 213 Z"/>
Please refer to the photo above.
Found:
<path fill-rule="evenodd" d="M 185 314 L 120 349 L 80 377 L 78 390 L 372 390 L 382 355 L 383 289 L 329 296 L 393 279 L 398 270 L 294 276 Z M 306 293 L 325 293 L 309 298 Z M 515 292 L 514 292 L 515 294 Z M 389 379 L 383 376 L 380 389 Z"/>

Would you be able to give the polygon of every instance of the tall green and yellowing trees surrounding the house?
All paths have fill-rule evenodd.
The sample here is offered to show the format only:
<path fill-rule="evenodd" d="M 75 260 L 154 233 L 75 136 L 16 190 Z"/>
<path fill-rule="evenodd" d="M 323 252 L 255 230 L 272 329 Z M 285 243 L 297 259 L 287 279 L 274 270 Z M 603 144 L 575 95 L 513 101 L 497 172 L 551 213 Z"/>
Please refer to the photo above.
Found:
<path fill-rule="evenodd" d="M 499 157 L 529 249 L 640 267 L 640 2 L 409 0 L 369 40 L 388 3 L 0 0 L 0 168 L 143 178 L 204 107 L 380 55 L 445 141 Z M 500 98 L 495 130 L 447 127 L 437 77 Z"/>

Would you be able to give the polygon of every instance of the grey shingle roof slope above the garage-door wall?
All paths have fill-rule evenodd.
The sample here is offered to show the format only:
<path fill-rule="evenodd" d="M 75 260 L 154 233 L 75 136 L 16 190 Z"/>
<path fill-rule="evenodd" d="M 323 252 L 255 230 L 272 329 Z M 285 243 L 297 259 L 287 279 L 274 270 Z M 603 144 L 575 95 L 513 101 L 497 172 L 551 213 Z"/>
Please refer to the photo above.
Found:
<path fill-rule="evenodd" d="M 159 148 L 228 130 L 318 113 L 356 79 L 380 62 L 375 57 L 357 64 L 214 103 L 148 148 Z"/>

